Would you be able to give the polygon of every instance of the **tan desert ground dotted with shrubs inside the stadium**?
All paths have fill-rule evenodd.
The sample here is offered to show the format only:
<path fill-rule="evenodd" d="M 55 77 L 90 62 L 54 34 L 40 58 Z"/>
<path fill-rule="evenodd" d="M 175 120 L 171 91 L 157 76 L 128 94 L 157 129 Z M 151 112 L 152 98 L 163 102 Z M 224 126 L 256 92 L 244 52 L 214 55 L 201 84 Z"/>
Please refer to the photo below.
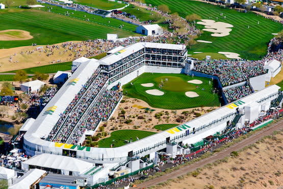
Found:
<path fill-rule="evenodd" d="M 124 97 L 123 100 L 125 102 L 119 104 L 118 108 L 113 113 L 109 121 L 100 123 L 99 126 L 107 124 L 107 126 L 105 127 L 105 131 L 112 132 L 113 128 L 115 128 L 114 130 L 136 129 L 136 130 L 160 132 L 159 130 L 153 127 L 159 124 L 182 124 L 184 122 L 188 122 L 195 118 L 195 115 L 192 113 L 192 111 L 196 113 L 204 114 L 218 108 L 218 107 L 202 107 L 202 108 L 188 108 L 181 110 L 167 110 L 167 109 L 151 107 L 145 101 L 139 99 Z M 150 110 L 146 111 L 145 109 L 141 109 L 141 108 L 149 108 L 154 111 L 150 111 Z M 125 110 L 125 119 L 123 117 L 118 116 L 118 114 L 121 112 L 121 109 Z M 155 114 L 162 111 L 163 111 L 163 115 L 161 116 L 160 119 L 157 119 L 155 117 Z M 188 114 L 187 115 L 182 114 L 183 111 L 188 111 Z M 176 121 L 176 119 L 179 116 L 184 116 L 182 123 Z M 126 124 L 125 120 L 129 120 L 129 119 L 133 121 L 130 124 Z"/>

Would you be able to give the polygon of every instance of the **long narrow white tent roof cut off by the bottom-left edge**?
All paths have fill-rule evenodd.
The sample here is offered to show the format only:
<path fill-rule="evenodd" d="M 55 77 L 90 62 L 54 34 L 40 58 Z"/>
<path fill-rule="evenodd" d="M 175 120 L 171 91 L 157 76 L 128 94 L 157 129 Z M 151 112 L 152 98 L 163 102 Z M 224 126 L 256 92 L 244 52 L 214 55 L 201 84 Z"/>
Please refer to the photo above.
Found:
<path fill-rule="evenodd" d="M 27 189 L 39 180 L 46 171 L 40 169 L 32 169 L 16 180 L 16 183 L 9 186 L 8 189 Z"/>

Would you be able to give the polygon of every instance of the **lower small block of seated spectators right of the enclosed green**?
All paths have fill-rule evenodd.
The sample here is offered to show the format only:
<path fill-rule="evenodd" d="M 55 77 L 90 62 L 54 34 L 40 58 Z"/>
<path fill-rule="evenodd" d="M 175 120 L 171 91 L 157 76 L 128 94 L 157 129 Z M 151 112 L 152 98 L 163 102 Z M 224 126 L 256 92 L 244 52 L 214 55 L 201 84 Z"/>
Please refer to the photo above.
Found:
<path fill-rule="evenodd" d="M 241 85 L 223 90 L 227 102 L 233 102 L 250 95 L 253 91 L 249 85 Z"/>

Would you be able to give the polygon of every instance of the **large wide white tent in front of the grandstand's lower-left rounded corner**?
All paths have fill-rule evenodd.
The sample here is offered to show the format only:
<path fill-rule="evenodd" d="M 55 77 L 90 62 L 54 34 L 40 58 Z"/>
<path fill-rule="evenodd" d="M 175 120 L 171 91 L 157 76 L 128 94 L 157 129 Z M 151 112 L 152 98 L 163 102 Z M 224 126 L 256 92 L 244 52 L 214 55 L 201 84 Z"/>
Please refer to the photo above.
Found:
<path fill-rule="evenodd" d="M 87 161 L 54 154 L 36 155 L 27 161 L 22 162 L 21 169 L 28 170 L 29 165 L 58 169 L 61 170 L 63 175 L 68 175 L 69 171 L 72 171 L 74 176 L 78 176 L 94 166 L 94 164 Z"/>

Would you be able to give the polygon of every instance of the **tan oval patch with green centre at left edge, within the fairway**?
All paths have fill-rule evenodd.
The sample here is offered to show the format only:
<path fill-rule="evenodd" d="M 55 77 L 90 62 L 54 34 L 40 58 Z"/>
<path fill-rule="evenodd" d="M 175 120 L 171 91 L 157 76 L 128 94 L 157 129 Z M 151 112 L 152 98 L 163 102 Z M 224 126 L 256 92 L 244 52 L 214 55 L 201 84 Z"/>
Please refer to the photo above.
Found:
<path fill-rule="evenodd" d="M 30 32 L 24 30 L 2 30 L 0 31 L 0 41 L 18 41 L 32 39 Z"/>

